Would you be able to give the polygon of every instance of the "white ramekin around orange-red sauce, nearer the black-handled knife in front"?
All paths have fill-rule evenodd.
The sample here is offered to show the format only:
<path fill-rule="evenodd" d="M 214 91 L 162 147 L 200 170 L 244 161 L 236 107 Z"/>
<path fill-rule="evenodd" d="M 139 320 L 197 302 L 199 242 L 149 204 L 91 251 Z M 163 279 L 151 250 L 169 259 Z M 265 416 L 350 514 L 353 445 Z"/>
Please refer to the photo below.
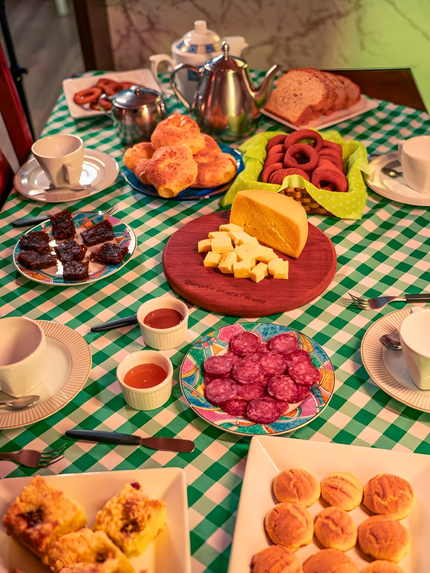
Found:
<path fill-rule="evenodd" d="M 158 364 L 167 372 L 166 378 L 152 388 L 132 388 L 124 384 L 124 376 L 131 368 L 138 364 Z M 162 406 L 170 398 L 173 378 L 173 366 L 169 358 L 155 350 L 140 350 L 132 352 L 121 360 L 116 368 L 116 379 L 121 387 L 124 400 L 128 406 L 136 410 L 155 410 Z"/>

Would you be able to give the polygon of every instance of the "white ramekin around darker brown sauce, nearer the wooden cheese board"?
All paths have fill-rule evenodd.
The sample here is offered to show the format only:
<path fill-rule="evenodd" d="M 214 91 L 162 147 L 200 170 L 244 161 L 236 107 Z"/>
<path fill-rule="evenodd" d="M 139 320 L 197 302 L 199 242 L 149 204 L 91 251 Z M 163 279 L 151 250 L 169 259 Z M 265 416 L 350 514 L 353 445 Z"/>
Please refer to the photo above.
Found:
<path fill-rule="evenodd" d="M 155 311 L 157 308 L 174 308 L 183 316 L 182 322 L 171 328 L 153 328 L 144 324 L 143 319 L 148 312 Z M 188 330 L 188 314 L 187 305 L 171 296 L 147 300 L 146 303 L 140 305 L 138 323 L 147 346 L 157 348 L 157 350 L 169 350 L 169 348 L 176 348 L 182 344 Z"/>

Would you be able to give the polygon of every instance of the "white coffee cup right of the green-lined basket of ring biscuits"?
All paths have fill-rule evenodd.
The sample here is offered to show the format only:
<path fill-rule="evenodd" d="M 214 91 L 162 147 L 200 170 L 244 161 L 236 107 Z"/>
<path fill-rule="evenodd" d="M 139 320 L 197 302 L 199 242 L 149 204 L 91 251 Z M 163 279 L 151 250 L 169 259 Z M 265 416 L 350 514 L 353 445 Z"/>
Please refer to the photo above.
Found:
<path fill-rule="evenodd" d="M 398 160 L 408 186 L 418 193 L 430 193 L 430 135 L 398 142 Z"/>

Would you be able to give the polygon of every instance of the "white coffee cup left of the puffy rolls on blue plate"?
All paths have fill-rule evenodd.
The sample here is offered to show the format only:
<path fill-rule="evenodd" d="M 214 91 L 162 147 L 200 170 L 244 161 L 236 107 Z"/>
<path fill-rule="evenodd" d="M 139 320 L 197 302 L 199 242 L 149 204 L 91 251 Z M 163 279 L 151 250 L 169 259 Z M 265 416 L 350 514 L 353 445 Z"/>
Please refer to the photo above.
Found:
<path fill-rule="evenodd" d="M 77 135 L 46 135 L 33 143 L 32 152 L 54 187 L 79 184 L 84 143 Z"/>

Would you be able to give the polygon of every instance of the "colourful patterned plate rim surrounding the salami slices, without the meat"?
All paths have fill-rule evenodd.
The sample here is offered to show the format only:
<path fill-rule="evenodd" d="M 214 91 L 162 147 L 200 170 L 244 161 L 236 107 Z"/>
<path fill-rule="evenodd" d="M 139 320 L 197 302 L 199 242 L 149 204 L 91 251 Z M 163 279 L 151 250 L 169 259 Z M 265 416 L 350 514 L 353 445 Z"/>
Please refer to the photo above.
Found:
<path fill-rule="evenodd" d="M 204 361 L 209 356 L 224 354 L 230 340 L 244 330 L 255 333 L 261 342 L 267 342 L 272 336 L 282 332 L 293 332 L 299 339 L 299 348 L 310 353 L 312 363 L 320 372 L 318 385 L 311 386 L 311 392 L 303 402 L 270 424 L 256 424 L 247 418 L 227 414 L 220 407 L 210 404 L 205 398 Z M 306 425 L 322 412 L 333 394 L 334 371 L 333 364 L 325 351 L 302 332 L 275 323 L 240 323 L 209 332 L 194 343 L 182 363 L 181 389 L 196 414 L 212 426 L 220 427 L 233 434 L 283 434 Z"/>

